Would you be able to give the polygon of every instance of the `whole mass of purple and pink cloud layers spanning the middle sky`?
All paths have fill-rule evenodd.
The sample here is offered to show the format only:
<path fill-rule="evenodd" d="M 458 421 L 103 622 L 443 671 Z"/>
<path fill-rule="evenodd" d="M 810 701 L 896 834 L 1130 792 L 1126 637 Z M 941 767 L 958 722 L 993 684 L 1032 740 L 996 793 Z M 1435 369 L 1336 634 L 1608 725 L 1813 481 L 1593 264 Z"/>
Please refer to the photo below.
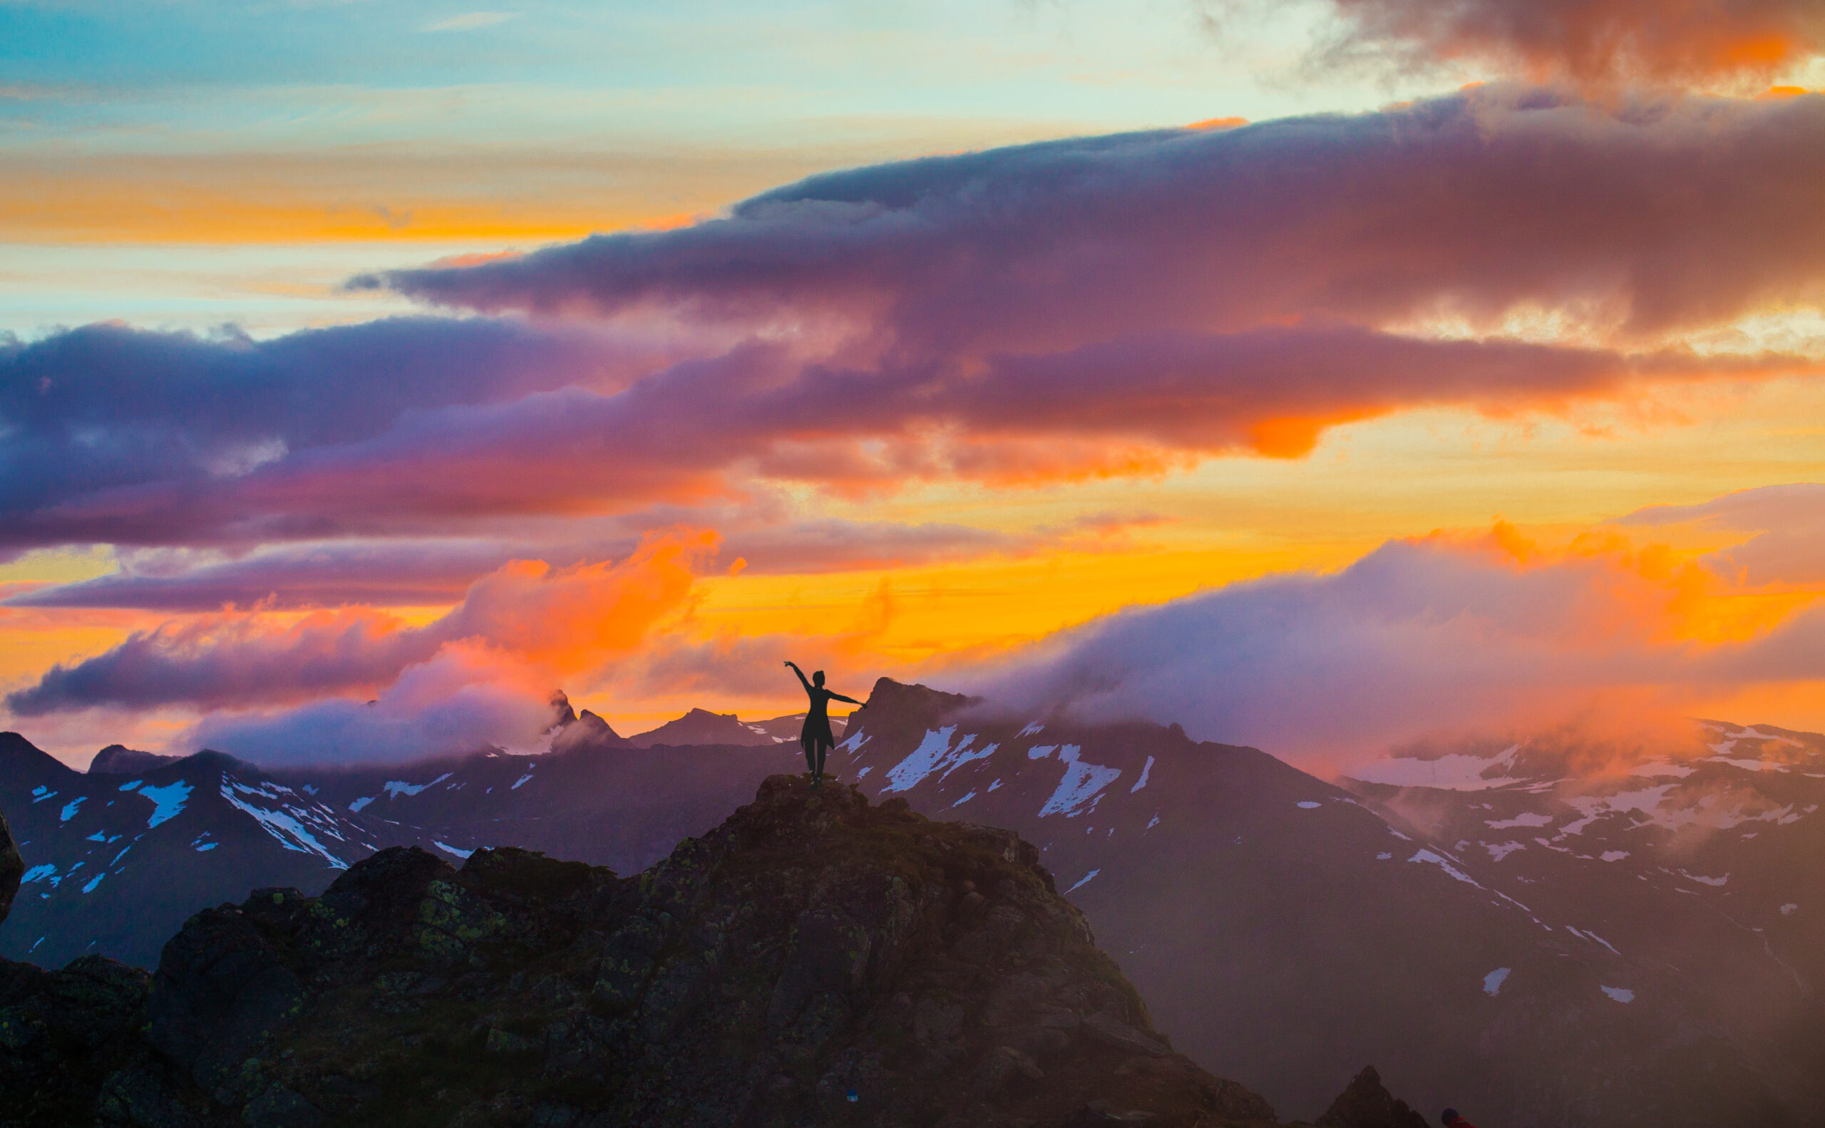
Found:
<path fill-rule="evenodd" d="M 451 599 L 498 553 L 611 555 L 642 515 L 765 507 L 776 486 L 1157 473 L 1298 456 L 1414 405 L 1557 411 L 1812 372 L 1666 334 L 1825 298 L 1820 183 L 1825 97 L 1507 88 L 814 177 L 681 230 L 365 283 L 504 316 L 9 341 L 0 553 L 217 551 L 40 606 Z M 1413 329 L 1515 310 L 1586 330 Z M 551 533 L 588 522 L 619 526 Z M 728 548 L 787 559 L 787 526 L 752 517 Z M 805 544 L 887 564 L 971 535 L 887 540 Z"/>

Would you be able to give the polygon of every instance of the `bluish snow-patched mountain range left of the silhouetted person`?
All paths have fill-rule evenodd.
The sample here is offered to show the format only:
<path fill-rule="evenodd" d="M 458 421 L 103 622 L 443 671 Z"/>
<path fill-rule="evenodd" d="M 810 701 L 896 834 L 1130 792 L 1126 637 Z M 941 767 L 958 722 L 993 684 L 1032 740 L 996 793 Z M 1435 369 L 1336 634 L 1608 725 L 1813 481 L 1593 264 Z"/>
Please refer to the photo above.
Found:
<path fill-rule="evenodd" d="M 606 730 L 606 725 L 602 726 Z M 0 734 L 0 810 L 26 858 L 0 956 L 58 967 L 102 953 L 155 966 L 206 905 L 252 889 L 321 893 L 389 845 L 451 860 L 520 845 L 639 872 L 717 825 L 798 745 L 635 750 L 571 717 L 542 756 L 272 772 L 199 752 L 137 774 L 77 772 Z"/>

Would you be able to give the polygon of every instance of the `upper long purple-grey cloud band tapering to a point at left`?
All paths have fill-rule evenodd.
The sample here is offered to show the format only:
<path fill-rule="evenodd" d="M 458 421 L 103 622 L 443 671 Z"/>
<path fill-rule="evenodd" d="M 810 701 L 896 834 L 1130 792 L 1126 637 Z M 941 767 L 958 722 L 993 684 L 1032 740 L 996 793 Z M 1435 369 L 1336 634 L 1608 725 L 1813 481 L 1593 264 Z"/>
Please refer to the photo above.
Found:
<path fill-rule="evenodd" d="M 916 356 L 1517 303 L 1637 330 L 1825 268 L 1825 97 L 1613 110 L 1482 88 L 812 177 L 726 219 L 365 279 L 449 307 L 880 319 Z"/>

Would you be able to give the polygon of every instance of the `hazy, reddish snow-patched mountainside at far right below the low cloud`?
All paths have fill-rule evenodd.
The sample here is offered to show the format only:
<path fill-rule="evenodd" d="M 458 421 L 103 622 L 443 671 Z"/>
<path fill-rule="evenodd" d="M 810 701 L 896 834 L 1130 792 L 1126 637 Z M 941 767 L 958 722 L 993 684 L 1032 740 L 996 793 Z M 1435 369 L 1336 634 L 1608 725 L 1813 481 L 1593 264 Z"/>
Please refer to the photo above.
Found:
<path fill-rule="evenodd" d="M 1675 969 L 1684 1029 L 1726 1031 L 1776 1090 L 1821 1077 L 1825 737 L 1705 721 L 1648 747 L 1383 759 L 1345 783 L 1590 955 Z"/>

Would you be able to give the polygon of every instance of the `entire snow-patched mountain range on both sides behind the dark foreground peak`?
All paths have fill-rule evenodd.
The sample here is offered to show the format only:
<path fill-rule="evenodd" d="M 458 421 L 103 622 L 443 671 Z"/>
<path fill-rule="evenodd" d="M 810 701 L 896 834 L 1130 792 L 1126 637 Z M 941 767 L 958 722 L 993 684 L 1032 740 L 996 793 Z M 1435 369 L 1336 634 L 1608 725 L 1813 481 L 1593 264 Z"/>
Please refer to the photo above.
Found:
<path fill-rule="evenodd" d="M 652 748 L 568 703 L 557 719 L 538 756 L 345 770 L 199 754 L 80 774 L 5 737 L 0 807 L 31 869 L 0 955 L 151 964 L 195 909 L 318 893 L 387 845 L 635 872 L 801 767 L 796 717 L 748 730 L 766 743 Z M 1007 717 L 883 679 L 830 767 L 1040 845 L 1175 1046 L 1290 1113 L 1372 1060 L 1422 1106 L 1511 1128 L 1805 1124 L 1825 741 L 1706 743 L 1626 770 L 1469 750 L 1345 789 L 1175 726 Z"/>

